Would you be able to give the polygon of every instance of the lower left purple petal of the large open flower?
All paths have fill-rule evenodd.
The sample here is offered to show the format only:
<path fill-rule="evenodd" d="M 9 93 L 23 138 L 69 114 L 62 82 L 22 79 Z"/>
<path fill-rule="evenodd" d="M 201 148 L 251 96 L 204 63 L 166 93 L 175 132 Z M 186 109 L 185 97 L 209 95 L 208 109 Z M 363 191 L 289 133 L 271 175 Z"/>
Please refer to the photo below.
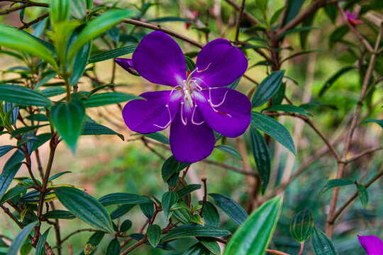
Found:
<path fill-rule="evenodd" d="M 151 91 L 141 94 L 140 97 L 146 100 L 138 99 L 126 103 L 123 120 L 130 130 L 146 134 L 169 126 L 177 113 L 181 92 Z"/>

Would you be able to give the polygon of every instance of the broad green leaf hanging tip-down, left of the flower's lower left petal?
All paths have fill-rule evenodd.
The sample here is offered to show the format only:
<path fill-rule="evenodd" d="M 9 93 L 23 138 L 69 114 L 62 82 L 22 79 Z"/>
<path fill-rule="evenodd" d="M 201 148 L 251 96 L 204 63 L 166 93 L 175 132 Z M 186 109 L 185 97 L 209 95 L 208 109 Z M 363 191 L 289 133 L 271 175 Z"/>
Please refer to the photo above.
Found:
<path fill-rule="evenodd" d="M 50 116 L 62 139 L 74 152 L 85 116 L 84 105 L 80 101 L 57 103 L 52 107 Z"/>

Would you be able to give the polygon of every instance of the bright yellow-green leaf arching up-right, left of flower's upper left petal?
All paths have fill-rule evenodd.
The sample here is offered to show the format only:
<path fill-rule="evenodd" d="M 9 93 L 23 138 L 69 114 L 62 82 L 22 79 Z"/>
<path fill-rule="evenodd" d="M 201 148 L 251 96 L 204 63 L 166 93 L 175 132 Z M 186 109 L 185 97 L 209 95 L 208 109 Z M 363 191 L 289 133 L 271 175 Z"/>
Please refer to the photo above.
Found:
<path fill-rule="evenodd" d="M 90 40 L 94 40 L 107 30 L 118 25 L 124 18 L 130 18 L 135 15 L 135 11 L 132 10 L 111 10 L 105 14 L 94 18 L 91 22 L 85 26 L 85 28 L 79 33 L 77 40 L 74 41 L 70 51 L 68 53 L 69 60 L 72 60 L 74 55 L 79 49 L 82 48 Z"/>

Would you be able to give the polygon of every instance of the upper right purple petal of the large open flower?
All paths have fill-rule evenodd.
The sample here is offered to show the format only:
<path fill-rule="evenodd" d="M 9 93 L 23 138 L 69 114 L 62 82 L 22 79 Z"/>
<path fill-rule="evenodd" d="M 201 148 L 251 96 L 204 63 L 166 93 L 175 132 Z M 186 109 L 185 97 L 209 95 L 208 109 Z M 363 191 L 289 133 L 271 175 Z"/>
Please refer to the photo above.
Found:
<path fill-rule="evenodd" d="M 194 72 L 193 77 L 199 81 L 200 86 L 228 86 L 245 74 L 248 60 L 243 52 L 228 40 L 216 39 L 206 44 L 199 52 L 196 68 L 198 72 Z"/>

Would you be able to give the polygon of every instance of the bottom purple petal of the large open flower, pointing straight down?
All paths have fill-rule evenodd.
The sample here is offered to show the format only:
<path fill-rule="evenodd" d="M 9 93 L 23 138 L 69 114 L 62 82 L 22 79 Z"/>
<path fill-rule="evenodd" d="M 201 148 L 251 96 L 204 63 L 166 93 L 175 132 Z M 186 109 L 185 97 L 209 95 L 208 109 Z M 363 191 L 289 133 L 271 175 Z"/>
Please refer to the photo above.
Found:
<path fill-rule="evenodd" d="M 199 162 L 208 157 L 214 149 L 213 130 L 206 123 L 192 123 L 192 120 L 194 123 L 203 121 L 199 111 L 195 111 L 193 116 L 193 109 L 189 104 L 179 106 L 179 111 L 170 125 L 170 148 L 179 162 Z"/>

